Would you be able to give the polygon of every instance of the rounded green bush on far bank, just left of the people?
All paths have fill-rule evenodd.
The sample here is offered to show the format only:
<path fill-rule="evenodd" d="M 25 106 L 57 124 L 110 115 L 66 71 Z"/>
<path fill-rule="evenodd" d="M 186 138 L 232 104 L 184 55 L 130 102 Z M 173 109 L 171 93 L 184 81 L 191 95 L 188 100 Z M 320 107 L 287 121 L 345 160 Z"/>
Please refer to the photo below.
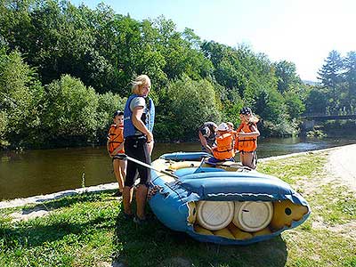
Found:
<path fill-rule="evenodd" d="M 47 86 L 44 130 L 50 142 L 95 141 L 98 98 L 93 88 L 65 75 Z"/>

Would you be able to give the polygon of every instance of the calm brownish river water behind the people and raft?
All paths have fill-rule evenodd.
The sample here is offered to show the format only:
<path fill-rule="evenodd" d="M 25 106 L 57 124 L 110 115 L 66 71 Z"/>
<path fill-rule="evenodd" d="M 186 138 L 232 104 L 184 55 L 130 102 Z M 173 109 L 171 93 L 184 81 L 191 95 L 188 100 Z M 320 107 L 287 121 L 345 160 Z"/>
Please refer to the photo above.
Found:
<path fill-rule="evenodd" d="M 351 138 L 260 139 L 258 158 L 321 150 L 356 143 Z M 157 143 L 152 159 L 167 152 L 199 151 L 198 142 Z M 239 156 L 238 156 L 239 157 Z M 106 147 L 0 152 L 0 200 L 116 182 Z M 83 179 L 84 177 L 84 179 Z"/>

